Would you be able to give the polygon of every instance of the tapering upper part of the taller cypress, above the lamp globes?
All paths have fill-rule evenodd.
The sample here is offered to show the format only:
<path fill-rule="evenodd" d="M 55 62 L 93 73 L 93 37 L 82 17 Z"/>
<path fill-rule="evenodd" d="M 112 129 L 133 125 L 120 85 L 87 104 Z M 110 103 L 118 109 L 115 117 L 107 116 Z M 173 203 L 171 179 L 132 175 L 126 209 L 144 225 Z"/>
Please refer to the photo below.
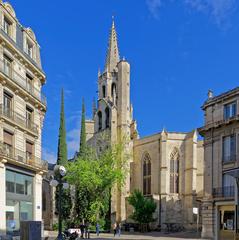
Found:
<path fill-rule="evenodd" d="M 60 113 L 60 127 L 58 137 L 58 152 L 57 164 L 67 164 L 67 145 L 66 145 L 66 126 L 65 126 L 65 110 L 64 110 L 64 90 L 61 91 L 61 113 Z"/>

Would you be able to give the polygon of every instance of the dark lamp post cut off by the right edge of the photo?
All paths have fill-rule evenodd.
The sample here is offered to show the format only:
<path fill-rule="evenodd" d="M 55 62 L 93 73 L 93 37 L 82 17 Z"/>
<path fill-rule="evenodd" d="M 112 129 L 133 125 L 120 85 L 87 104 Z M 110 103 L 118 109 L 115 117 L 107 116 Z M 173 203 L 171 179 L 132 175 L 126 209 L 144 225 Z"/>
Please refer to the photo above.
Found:
<path fill-rule="evenodd" d="M 239 168 L 234 168 L 224 172 L 236 180 L 235 189 L 235 240 L 239 240 Z"/>

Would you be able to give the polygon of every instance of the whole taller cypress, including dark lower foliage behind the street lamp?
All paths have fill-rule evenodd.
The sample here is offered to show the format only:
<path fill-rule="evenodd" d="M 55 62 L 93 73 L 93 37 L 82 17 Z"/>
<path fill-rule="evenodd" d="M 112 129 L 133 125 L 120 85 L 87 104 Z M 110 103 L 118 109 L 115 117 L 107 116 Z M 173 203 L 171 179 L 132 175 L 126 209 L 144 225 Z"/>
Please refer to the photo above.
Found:
<path fill-rule="evenodd" d="M 65 112 L 64 112 L 64 91 L 61 92 L 61 113 L 60 113 L 60 127 L 58 138 L 58 152 L 57 152 L 57 165 L 66 166 L 67 160 L 67 145 L 66 145 L 66 127 L 65 127 Z M 59 212 L 59 189 L 56 189 L 56 212 Z M 62 218 L 67 220 L 70 217 L 72 202 L 70 190 L 62 191 Z"/>

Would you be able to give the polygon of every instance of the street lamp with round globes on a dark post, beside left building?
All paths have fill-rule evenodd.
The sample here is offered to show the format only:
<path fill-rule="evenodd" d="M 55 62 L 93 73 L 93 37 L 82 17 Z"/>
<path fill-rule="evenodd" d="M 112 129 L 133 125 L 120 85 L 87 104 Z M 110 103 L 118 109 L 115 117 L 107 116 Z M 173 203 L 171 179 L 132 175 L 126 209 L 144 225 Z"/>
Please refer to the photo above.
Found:
<path fill-rule="evenodd" d="M 66 175 L 66 169 L 64 166 L 60 166 L 60 165 L 56 165 L 54 167 L 54 176 L 55 178 L 53 178 L 50 182 L 50 185 L 52 187 L 57 187 L 59 189 L 59 199 L 58 199 L 58 236 L 57 239 L 58 240 L 62 240 L 63 236 L 62 236 L 62 206 L 61 206 L 61 198 L 62 198 L 62 189 L 68 189 L 69 188 L 69 184 L 66 182 L 63 182 L 63 177 Z"/>

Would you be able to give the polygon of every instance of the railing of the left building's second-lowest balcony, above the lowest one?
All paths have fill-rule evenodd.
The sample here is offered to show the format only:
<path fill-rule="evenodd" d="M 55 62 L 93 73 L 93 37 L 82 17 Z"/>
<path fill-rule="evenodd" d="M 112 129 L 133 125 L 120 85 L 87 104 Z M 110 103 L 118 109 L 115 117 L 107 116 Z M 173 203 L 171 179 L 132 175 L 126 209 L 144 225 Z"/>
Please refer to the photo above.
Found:
<path fill-rule="evenodd" d="M 5 108 L 2 104 L 0 104 L 0 116 L 4 116 L 19 124 L 21 127 L 38 134 L 38 126 L 33 121 L 23 117 L 9 108 Z"/>

